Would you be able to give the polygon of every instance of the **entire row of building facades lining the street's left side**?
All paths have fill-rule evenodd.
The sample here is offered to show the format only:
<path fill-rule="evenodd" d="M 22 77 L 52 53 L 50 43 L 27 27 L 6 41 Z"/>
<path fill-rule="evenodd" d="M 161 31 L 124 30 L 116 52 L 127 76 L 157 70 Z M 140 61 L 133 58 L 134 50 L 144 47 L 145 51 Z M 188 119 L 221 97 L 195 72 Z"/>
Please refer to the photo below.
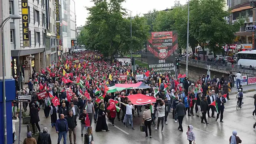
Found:
<path fill-rule="evenodd" d="M 9 47 L 12 76 L 20 72 L 24 82 L 34 71 L 65 57 L 76 42 L 76 15 L 73 0 L 9 0 Z M 72 41 L 73 40 L 73 41 Z"/>

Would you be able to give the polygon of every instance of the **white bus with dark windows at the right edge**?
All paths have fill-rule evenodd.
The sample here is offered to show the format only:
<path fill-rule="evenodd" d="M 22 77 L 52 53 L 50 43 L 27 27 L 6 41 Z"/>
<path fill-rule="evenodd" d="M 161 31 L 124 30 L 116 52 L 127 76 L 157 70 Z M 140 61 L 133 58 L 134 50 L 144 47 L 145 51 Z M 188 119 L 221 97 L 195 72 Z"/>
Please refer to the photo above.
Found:
<path fill-rule="evenodd" d="M 237 53 L 237 65 L 256 67 L 256 50 L 241 51 Z"/>

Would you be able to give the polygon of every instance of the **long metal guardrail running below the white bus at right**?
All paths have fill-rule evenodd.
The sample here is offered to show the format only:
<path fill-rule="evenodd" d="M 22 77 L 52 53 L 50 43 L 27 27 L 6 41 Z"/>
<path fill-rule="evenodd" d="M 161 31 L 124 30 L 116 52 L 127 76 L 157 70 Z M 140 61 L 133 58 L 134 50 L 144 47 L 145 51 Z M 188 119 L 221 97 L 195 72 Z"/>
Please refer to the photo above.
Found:
<path fill-rule="evenodd" d="M 186 63 L 186 58 L 179 57 L 180 62 Z M 222 70 L 230 70 L 230 71 L 240 71 L 241 73 L 248 73 L 248 74 L 256 74 L 256 67 L 248 67 L 248 66 L 238 66 L 236 64 L 231 63 L 215 63 L 215 62 L 209 62 L 209 61 L 201 61 L 201 60 L 195 60 L 195 59 L 188 59 L 188 63 L 192 64 L 195 67 L 205 67 L 207 69 L 207 66 L 209 65 L 211 68 L 215 69 L 222 69 Z"/>

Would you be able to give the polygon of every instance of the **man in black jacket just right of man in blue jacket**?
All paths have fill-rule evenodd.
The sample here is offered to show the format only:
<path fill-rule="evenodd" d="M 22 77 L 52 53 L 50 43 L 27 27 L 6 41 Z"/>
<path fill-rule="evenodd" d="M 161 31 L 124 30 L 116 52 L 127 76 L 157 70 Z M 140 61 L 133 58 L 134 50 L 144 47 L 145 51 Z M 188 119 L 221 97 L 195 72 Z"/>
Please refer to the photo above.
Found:
<path fill-rule="evenodd" d="M 72 132 L 74 135 L 74 144 L 76 144 L 76 117 L 73 115 L 73 110 L 68 111 L 68 116 L 65 117 L 68 121 L 68 133 L 69 133 L 69 142 L 72 144 Z"/>

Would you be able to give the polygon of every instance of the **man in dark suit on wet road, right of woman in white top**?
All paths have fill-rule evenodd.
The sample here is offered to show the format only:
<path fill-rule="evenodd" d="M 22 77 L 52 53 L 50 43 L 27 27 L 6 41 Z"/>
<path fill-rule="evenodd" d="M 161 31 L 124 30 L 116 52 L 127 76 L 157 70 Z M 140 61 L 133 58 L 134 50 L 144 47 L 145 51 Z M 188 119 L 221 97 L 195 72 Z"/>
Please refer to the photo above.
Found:
<path fill-rule="evenodd" d="M 184 115 L 186 115 L 186 108 L 185 108 L 185 105 L 182 103 L 182 100 L 179 100 L 179 104 L 176 105 L 174 114 L 176 113 L 179 121 L 178 129 L 183 132 L 182 121 L 183 121 Z"/>

